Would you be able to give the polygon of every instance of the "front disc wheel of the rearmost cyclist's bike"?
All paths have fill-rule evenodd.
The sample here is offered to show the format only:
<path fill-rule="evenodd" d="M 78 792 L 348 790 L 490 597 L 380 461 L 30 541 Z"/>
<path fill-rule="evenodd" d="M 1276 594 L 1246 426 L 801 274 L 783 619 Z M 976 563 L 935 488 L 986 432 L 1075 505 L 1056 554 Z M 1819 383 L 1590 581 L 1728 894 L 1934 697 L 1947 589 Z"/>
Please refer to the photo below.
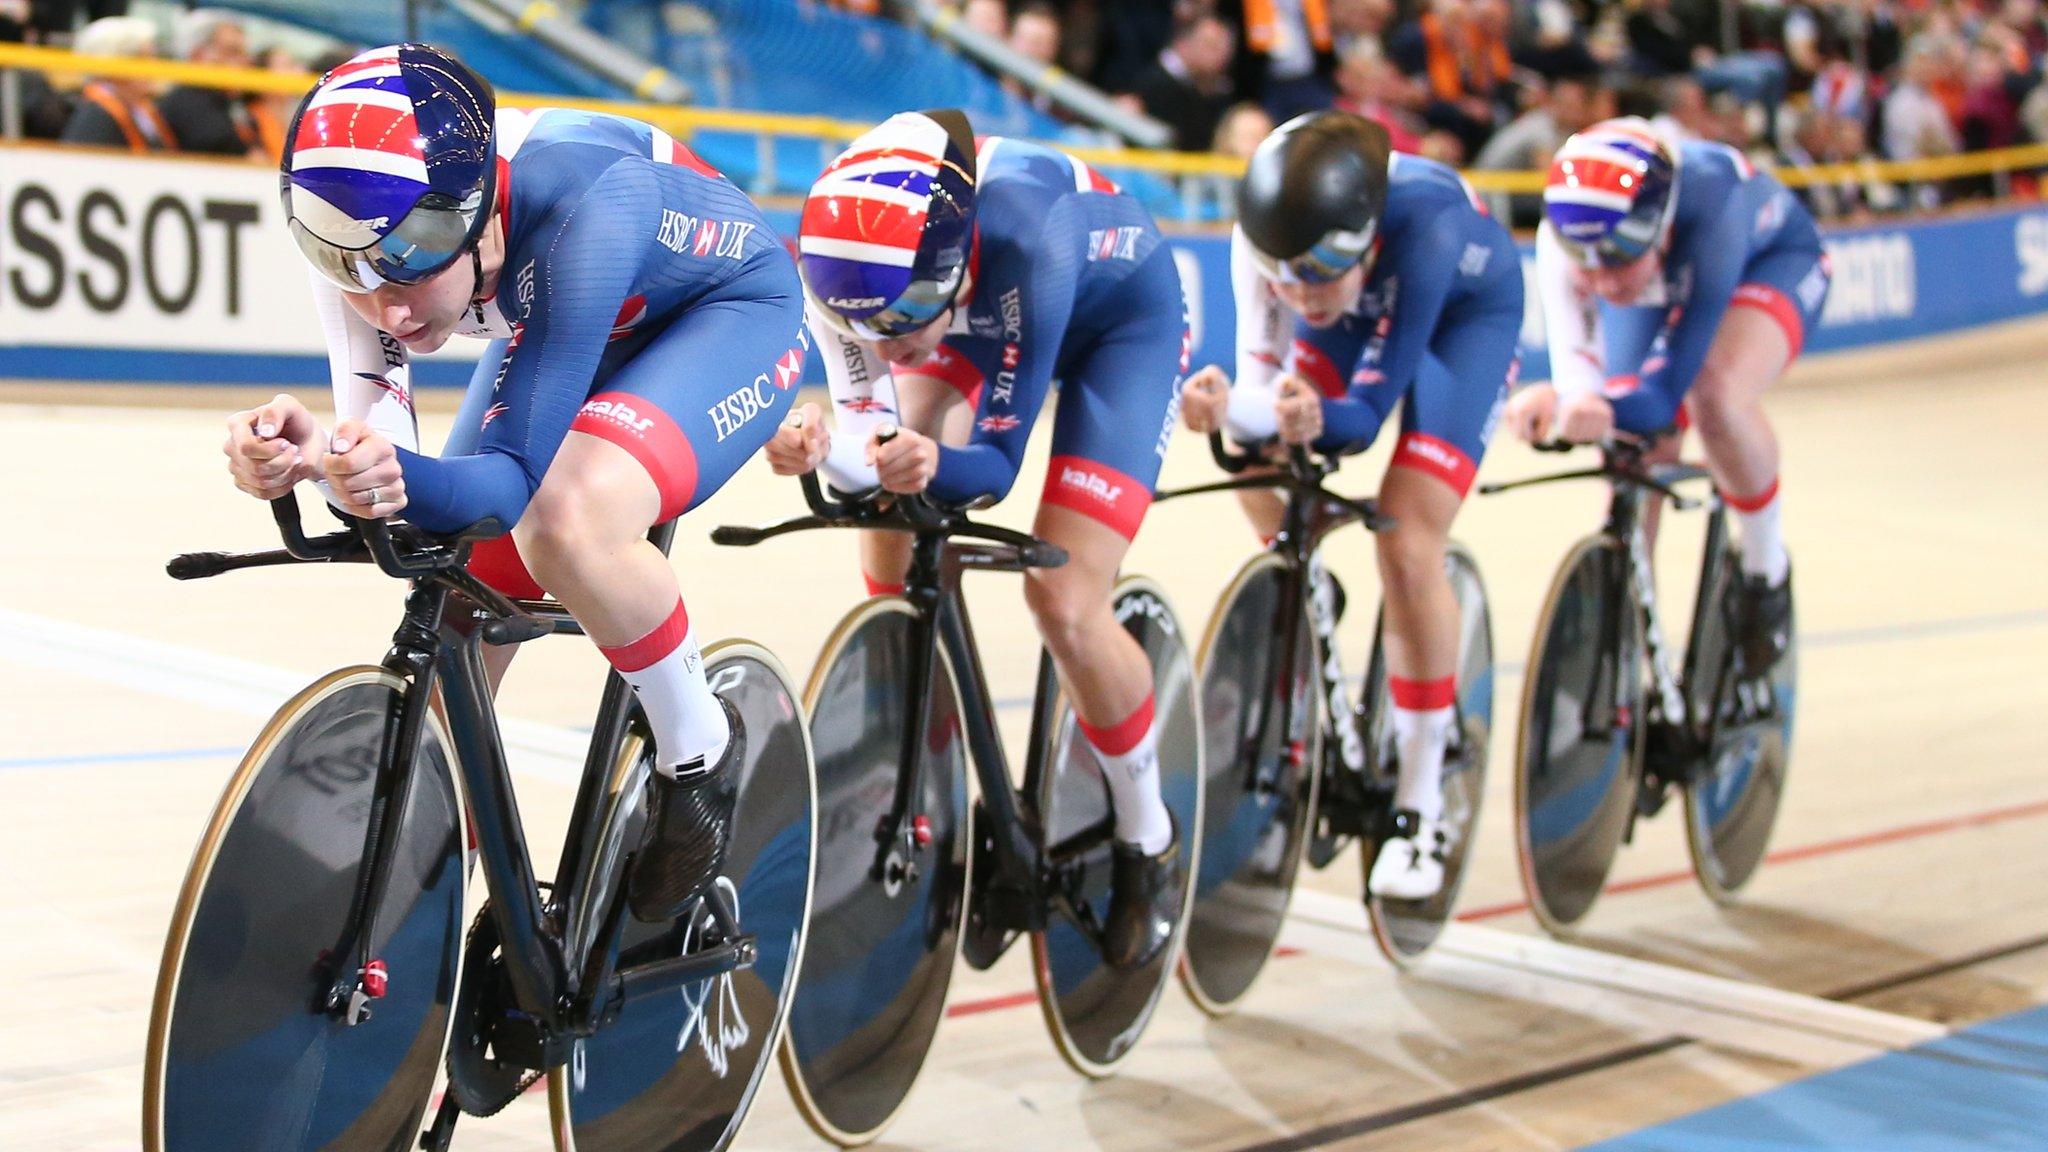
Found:
<path fill-rule="evenodd" d="M 1544 931 L 1567 935 L 1608 881 L 1642 767 L 1642 621 L 1620 543 L 1575 543 L 1536 619 L 1516 744 L 1516 847 L 1530 910 Z"/>

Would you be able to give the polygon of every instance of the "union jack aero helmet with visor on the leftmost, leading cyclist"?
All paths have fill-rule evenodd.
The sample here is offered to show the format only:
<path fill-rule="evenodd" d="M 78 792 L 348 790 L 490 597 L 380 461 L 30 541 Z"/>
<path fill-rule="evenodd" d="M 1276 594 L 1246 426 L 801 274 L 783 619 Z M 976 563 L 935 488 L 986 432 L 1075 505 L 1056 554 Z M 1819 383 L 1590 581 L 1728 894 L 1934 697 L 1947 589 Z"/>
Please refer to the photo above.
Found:
<path fill-rule="evenodd" d="M 299 252 L 342 291 L 418 283 L 475 250 L 498 191 L 492 86 L 438 47 L 365 51 L 319 78 L 285 133 Z"/>

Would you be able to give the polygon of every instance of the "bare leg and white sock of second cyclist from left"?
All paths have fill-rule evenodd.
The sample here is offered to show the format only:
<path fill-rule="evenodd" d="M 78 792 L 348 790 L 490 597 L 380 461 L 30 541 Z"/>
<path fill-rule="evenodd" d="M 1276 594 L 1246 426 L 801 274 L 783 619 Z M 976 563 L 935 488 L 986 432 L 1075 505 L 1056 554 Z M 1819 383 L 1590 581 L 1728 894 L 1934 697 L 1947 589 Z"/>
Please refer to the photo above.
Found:
<path fill-rule="evenodd" d="M 1102 521 L 1053 504 L 1038 506 L 1032 531 L 1067 551 L 1067 564 L 1024 574 L 1024 603 L 1083 736 L 1104 760 L 1116 838 L 1159 853 L 1174 826 L 1159 799 L 1151 662 L 1110 607 L 1130 541 Z"/>

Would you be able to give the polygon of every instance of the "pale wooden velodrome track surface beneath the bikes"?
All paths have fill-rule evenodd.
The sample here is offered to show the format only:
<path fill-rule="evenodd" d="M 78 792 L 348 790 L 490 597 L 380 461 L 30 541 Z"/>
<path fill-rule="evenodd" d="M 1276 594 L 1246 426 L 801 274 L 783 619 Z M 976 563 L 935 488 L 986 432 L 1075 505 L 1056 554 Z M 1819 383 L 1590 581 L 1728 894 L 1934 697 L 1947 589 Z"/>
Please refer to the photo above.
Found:
<path fill-rule="evenodd" d="M 1669 812 L 1624 851 L 1618 892 L 1575 947 L 1534 947 L 1511 851 L 1511 724 L 1532 613 L 1599 496 L 1475 498 L 1458 535 L 1493 594 L 1501 722 L 1466 922 L 1432 963 L 1397 976 L 1376 957 L 1358 861 L 1341 859 L 1307 879 L 1317 896 L 1298 902 L 1290 951 L 1237 1017 L 1204 1021 L 1176 992 L 1120 1076 L 1083 1082 L 1047 1041 L 1014 953 L 961 974 L 932 1072 L 885 1146 L 1577 1148 L 2048 1000 L 2044 361 L 2048 324 L 2032 322 L 1815 359 L 1769 398 L 1788 445 L 1802 707 L 1778 857 L 1739 906 L 1712 908 L 1683 877 Z M 8 1152 L 137 1148 L 164 924 L 219 785 L 262 715 L 330 666 L 375 662 L 395 623 L 395 586 L 360 568 L 162 574 L 180 549 L 272 543 L 217 449 L 221 416 L 248 396 L 0 385 L 16 461 L 0 504 Z M 444 424 L 432 416 L 430 437 Z M 1042 437 L 1036 449 L 995 519 L 1026 523 Z M 1339 484 L 1368 490 L 1382 461 L 1384 447 Z M 1485 476 L 1550 463 L 1503 443 Z M 1182 437 L 1167 482 L 1208 476 Z M 707 541 L 711 525 L 795 510 L 795 486 L 754 463 L 684 523 L 676 566 L 700 633 L 760 640 L 801 678 L 858 594 L 852 537 Z M 1161 576 L 1198 631 L 1249 545 L 1223 498 L 1165 504 L 1130 568 Z M 1677 539 L 1665 562 L 1690 596 Z M 1333 545 L 1333 564 L 1368 605 L 1366 541 Z M 995 693 L 1022 701 L 1032 635 L 1016 582 L 971 588 Z M 1368 629 L 1354 609 L 1354 670 Z M 543 857 L 573 785 L 565 728 L 588 722 L 600 672 L 588 644 L 555 640 L 506 691 Z M 1014 738 L 1022 717 L 1006 709 Z M 543 1099 L 465 1119 L 459 1146 L 549 1148 Z M 741 1148 L 821 1144 L 770 1084 Z"/>

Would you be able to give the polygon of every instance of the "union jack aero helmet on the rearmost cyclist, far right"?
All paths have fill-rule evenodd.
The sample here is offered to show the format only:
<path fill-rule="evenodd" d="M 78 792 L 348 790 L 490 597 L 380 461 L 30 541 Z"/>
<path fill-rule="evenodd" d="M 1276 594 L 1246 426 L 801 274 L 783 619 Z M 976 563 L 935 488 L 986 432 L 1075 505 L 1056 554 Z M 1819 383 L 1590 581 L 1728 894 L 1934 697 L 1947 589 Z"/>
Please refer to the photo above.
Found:
<path fill-rule="evenodd" d="M 1556 150 L 1542 211 L 1565 252 L 1585 266 L 1618 269 L 1665 234 L 1677 189 L 1671 148 L 1640 117 L 1602 121 Z"/>

